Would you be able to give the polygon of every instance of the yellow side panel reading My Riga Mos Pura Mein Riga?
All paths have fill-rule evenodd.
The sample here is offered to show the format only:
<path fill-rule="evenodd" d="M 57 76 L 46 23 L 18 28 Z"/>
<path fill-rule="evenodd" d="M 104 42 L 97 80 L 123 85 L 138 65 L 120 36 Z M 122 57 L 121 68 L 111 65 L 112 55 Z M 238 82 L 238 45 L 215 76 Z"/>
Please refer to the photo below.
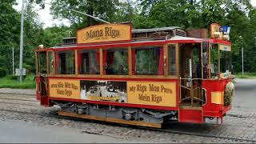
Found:
<path fill-rule="evenodd" d="M 128 103 L 177 106 L 175 82 L 127 82 Z"/>

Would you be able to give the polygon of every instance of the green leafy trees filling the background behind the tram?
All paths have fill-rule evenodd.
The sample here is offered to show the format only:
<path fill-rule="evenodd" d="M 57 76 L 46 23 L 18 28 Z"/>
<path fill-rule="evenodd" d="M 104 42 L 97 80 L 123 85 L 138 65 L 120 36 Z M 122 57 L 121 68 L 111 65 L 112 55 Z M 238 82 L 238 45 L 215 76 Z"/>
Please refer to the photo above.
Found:
<path fill-rule="evenodd" d="M 62 42 L 62 38 L 75 36 L 78 28 L 102 23 L 70 9 L 108 22 L 133 22 L 134 28 L 180 26 L 184 29 L 209 30 L 213 22 L 231 26 L 234 74 L 242 71 L 242 47 L 244 70 L 256 72 L 256 9 L 248 0 L 53 0 L 51 13 L 54 18 L 66 18 L 71 26 L 46 29 L 42 28 L 34 11 L 35 5 L 44 8 L 45 0 L 29 2 L 25 8 L 23 66 L 31 74 L 35 72 L 34 49 L 38 45 L 56 46 Z M 0 2 L 0 68 L 6 74 L 12 74 L 12 47 L 15 68 L 19 62 L 20 13 L 14 10 L 13 5 L 15 0 Z"/>

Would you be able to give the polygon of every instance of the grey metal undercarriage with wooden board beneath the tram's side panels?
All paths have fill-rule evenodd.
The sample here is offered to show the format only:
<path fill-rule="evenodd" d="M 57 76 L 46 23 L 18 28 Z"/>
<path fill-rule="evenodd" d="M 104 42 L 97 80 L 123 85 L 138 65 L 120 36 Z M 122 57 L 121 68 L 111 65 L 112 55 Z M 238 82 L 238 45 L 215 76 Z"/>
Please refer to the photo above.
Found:
<path fill-rule="evenodd" d="M 154 128 L 162 128 L 163 123 L 178 121 L 178 111 L 175 110 L 148 110 L 56 101 L 53 101 L 53 103 L 62 108 L 62 110 L 58 111 L 59 115 L 73 118 L 86 118 L 102 122 L 116 122 Z"/>

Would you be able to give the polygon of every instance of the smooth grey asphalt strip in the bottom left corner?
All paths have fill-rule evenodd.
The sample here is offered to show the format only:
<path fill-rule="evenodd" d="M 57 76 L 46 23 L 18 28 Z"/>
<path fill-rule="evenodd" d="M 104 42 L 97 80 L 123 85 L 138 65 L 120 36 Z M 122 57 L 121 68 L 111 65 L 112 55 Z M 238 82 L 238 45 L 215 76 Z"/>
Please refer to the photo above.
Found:
<path fill-rule="evenodd" d="M 77 129 L 57 126 L 34 126 L 26 122 L 0 121 L 0 142 L 13 143 L 128 143 L 133 141 L 103 135 L 85 134 Z M 135 142 L 137 143 L 137 142 Z"/>

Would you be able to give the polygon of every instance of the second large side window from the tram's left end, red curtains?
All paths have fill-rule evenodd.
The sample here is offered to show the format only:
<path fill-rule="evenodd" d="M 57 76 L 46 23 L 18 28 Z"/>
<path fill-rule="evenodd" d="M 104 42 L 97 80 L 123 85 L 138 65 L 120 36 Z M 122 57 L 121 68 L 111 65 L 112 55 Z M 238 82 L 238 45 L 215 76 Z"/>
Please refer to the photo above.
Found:
<path fill-rule="evenodd" d="M 99 74 L 99 51 L 78 51 L 79 74 Z"/>

